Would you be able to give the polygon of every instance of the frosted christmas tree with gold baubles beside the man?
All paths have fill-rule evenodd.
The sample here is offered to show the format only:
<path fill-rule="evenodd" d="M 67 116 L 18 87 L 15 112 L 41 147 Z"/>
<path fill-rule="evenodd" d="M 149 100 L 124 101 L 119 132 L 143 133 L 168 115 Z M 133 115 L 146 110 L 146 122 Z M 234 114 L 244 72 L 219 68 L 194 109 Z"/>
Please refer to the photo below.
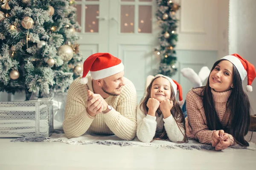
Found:
<path fill-rule="evenodd" d="M 0 91 L 43 97 L 82 72 L 74 0 L 0 1 Z"/>

